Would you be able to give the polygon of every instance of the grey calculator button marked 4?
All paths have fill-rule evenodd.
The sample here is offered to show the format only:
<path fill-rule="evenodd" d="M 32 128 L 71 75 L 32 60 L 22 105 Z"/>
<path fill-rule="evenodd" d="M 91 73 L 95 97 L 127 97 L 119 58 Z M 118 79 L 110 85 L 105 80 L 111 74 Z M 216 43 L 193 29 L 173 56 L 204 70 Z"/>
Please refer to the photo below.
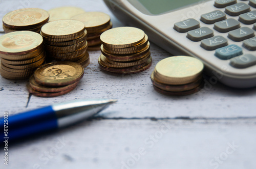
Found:
<path fill-rule="evenodd" d="M 227 37 L 233 41 L 240 42 L 254 37 L 254 31 L 249 29 L 249 27 L 241 27 L 240 29 L 230 31 Z"/>

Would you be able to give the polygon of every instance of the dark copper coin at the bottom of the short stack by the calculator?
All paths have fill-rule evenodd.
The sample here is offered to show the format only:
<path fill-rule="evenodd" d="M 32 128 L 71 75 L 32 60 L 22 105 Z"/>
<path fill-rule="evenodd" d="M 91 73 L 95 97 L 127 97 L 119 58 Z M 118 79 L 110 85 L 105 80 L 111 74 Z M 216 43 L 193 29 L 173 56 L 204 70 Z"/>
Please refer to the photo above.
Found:
<path fill-rule="evenodd" d="M 203 85 L 204 85 L 204 82 L 202 82 L 201 85 L 195 89 L 191 89 L 191 90 L 183 91 L 183 92 L 165 91 L 165 90 L 162 90 L 162 89 L 156 87 L 155 85 L 153 85 L 153 87 L 160 94 L 170 95 L 170 96 L 185 96 L 185 95 L 191 95 L 191 94 L 197 93 L 198 91 L 200 91 L 202 89 Z"/>

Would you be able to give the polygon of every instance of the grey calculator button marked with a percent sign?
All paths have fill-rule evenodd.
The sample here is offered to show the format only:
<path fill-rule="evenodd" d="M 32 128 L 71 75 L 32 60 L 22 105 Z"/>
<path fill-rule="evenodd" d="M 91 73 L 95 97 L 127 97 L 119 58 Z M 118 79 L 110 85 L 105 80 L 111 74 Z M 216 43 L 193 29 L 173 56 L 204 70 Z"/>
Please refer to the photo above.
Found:
<path fill-rule="evenodd" d="M 214 36 L 214 31 L 208 27 L 200 27 L 199 29 L 189 31 L 187 38 L 191 41 L 201 41 L 202 39 L 210 38 Z"/>

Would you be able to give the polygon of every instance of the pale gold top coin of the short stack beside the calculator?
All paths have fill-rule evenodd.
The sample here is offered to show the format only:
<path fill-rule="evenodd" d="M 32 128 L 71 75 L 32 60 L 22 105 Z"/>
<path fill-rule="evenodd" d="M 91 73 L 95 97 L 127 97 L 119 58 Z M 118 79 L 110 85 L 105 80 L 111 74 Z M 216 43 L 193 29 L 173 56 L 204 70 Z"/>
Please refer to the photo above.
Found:
<path fill-rule="evenodd" d="M 184 85 L 201 76 L 204 65 L 192 57 L 177 56 L 161 60 L 155 67 L 155 80 L 167 85 Z"/>

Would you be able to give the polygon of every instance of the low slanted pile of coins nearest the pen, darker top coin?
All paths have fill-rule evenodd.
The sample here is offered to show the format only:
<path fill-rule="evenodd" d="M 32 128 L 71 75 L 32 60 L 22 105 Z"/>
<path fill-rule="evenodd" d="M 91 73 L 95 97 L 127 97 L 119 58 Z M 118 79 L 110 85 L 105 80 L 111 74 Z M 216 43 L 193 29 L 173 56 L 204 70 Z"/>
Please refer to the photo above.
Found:
<path fill-rule="evenodd" d="M 27 89 L 39 97 L 60 96 L 74 90 L 83 74 L 83 67 L 75 62 L 48 63 L 35 70 Z"/>

